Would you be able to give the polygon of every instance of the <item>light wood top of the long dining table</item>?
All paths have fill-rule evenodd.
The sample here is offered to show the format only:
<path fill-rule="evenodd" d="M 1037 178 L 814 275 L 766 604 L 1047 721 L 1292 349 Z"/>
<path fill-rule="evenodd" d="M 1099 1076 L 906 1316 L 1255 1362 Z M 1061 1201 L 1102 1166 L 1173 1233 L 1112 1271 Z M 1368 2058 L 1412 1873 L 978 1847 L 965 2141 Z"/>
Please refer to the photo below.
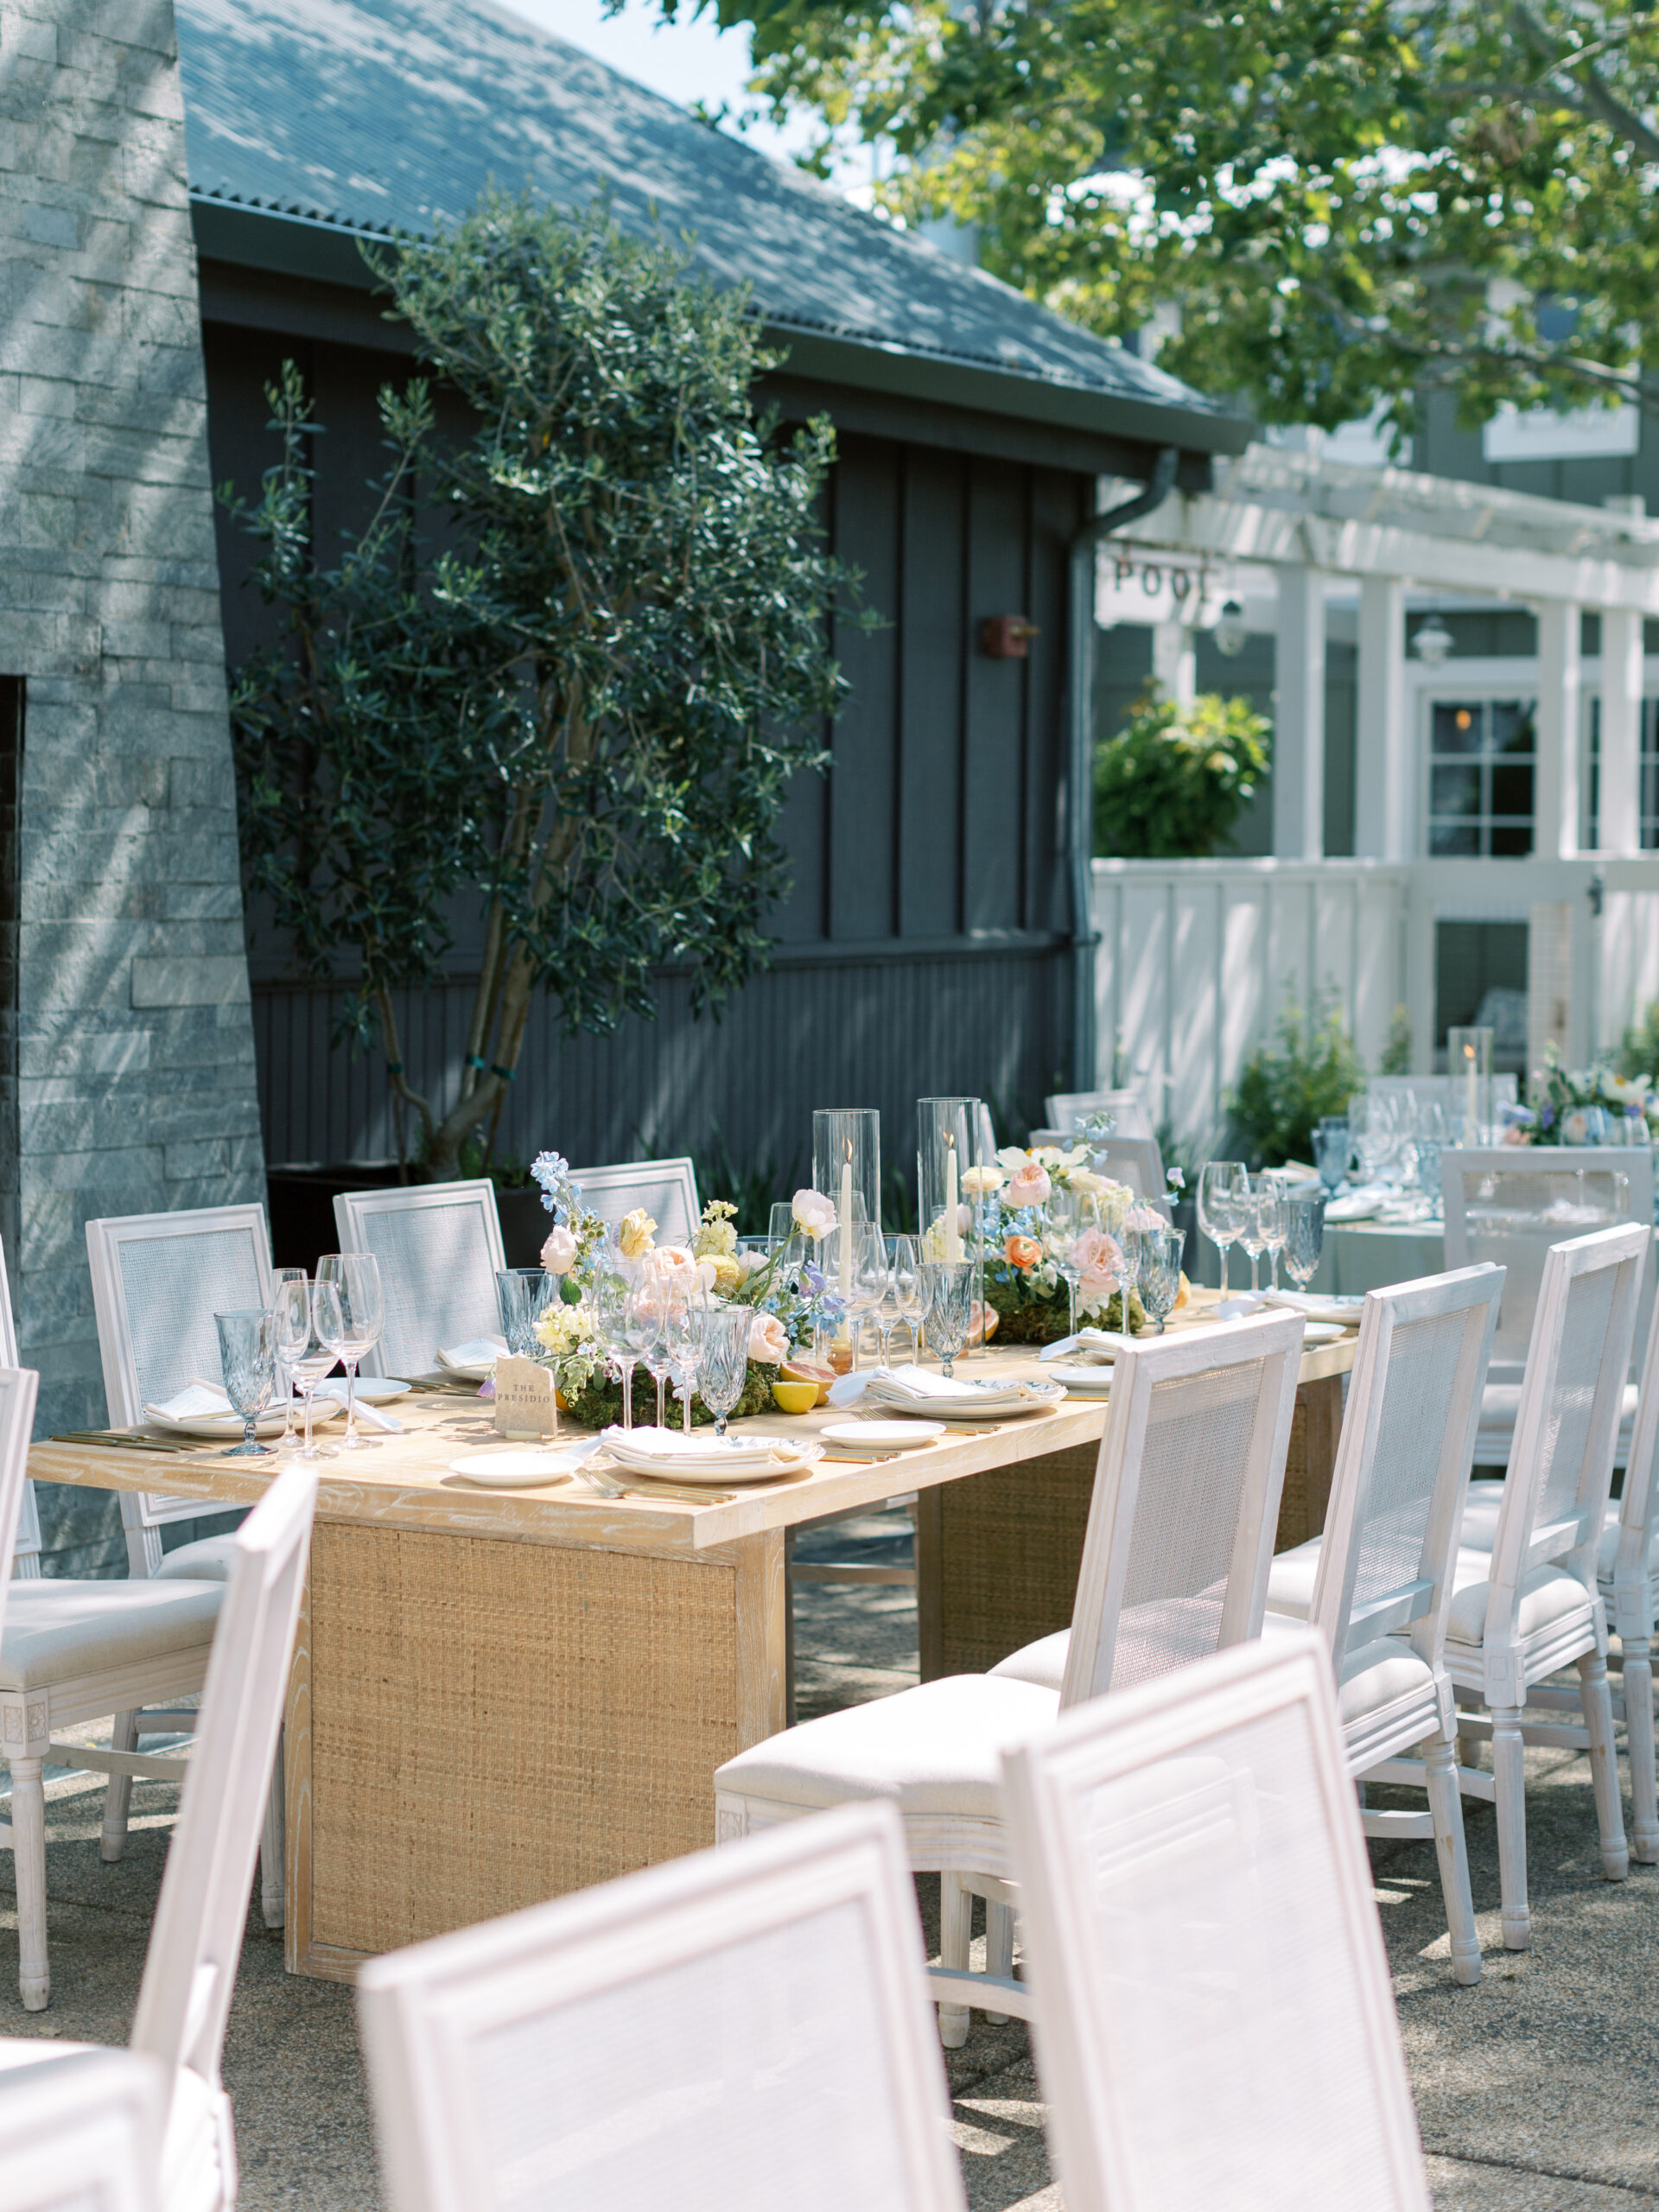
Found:
<path fill-rule="evenodd" d="M 1172 1329 L 1225 1327 L 1210 1323 L 1217 1294 L 1197 1290 L 1192 1307 L 1172 1318 Z M 1347 1374 L 1356 1336 L 1312 1345 L 1301 1360 L 1298 1383 Z M 1044 1374 L 1035 1347 L 991 1349 L 960 1363 L 964 1376 Z M 670 1400 L 672 1402 L 672 1400 Z M 372 1522 L 387 1528 L 451 1531 L 524 1544 L 575 1544 L 604 1551 L 688 1553 L 732 1544 L 768 1528 L 790 1528 L 825 1515 L 856 1513 L 883 1504 L 900 1491 L 931 1489 L 964 1475 L 1022 1460 L 1046 1458 L 1077 1444 L 1097 1442 L 1106 1427 L 1104 1398 L 1066 1398 L 1051 1411 L 984 1422 L 973 1431 L 949 1431 L 891 1458 L 821 1460 L 803 1478 L 750 1484 L 730 1504 L 681 1504 L 677 1498 L 599 1498 L 580 1473 L 535 1491 L 487 1491 L 449 1473 L 449 1462 L 473 1451 L 524 1451 L 495 1436 L 484 1402 L 447 1394 L 398 1398 L 387 1411 L 403 1422 L 403 1436 L 380 1436 L 372 1449 L 325 1458 L 319 1464 L 319 1520 Z M 757 1413 L 734 1422 L 743 1436 L 787 1436 L 805 1442 L 845 1411 L 818 1407 L 814 1413 Z M 323 1433 L 336 1442 L 338 1425 Z M 374 1431 L 367 1431 L 374 1433 Z M 562 1422 L 562 1438 L 591 1431 Z M 281 1462 L 228 1460 L 215 1447 L 190 1453 L 122 1451 L 108 1444 L 40 1442 L 29 1453 L 38 1482 L 75 1482 L 93 1489 L 153 1491 L 168 1498 L 199 1498 L 204 1511 L 254 1504 Z M 626 1482 L 624 1471 L 615 1471 Z M 728 1489 L 737 1489 L 728 1484 Z"/>

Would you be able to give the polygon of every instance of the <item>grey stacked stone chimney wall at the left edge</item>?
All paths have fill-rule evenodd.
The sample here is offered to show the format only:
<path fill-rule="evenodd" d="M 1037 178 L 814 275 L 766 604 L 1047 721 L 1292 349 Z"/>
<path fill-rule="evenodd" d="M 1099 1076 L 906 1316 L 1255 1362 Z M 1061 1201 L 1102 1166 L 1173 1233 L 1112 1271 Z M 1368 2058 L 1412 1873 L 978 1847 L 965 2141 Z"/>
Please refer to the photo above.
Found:
<path fill-rule="evenodd" d="M 104 1416 L 88 1217 L 265 1194 L 170 0 L 0 0 L 0 1228 L 62 1427 Z M 119 1557 L 100 1493 L 42 1517 L 55 1564 Z"/>

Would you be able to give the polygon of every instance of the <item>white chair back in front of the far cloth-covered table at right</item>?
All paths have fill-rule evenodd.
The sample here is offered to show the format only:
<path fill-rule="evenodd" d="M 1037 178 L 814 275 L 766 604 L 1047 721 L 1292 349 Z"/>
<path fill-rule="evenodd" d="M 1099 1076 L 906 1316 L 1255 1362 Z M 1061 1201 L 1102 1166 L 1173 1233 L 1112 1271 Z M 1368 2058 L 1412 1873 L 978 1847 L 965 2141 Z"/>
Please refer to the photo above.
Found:
<path fill-rule="evenodd" d="M 1652 1152 L 1641 1146 L 1449 1148 L 1440 1155 L 1440 1188 L 1447 1267 L 1489 1259 L 1509 1270 L 1491 1371 L 1511 1383 L 1520 1380 L 1526 1360 L 1548 1248 L 1615 1221 L 1652 1223 Z M 1650 1307 L 1652 1259 L 1644 1272 L 1637 1323 L 1644 1343 Z"/>

